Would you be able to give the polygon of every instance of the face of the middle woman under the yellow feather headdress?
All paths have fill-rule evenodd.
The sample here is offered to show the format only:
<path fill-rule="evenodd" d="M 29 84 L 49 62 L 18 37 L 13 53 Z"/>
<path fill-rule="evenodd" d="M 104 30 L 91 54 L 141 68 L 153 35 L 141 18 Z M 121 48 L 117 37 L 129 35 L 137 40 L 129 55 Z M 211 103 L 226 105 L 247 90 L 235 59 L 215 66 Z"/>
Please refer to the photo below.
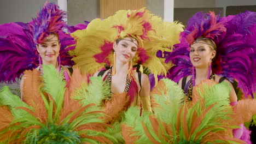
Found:
<path fill-rule="evenodd" d="M 137 45 L 137 40 L 130 37 L 126 37 L 118 43 L 115 43 L 113 49 L 115 51 L 117 61 L 121 61 L 123 63 L 132 61 L 132 58 L 135 56 L 138 49 Z"/>

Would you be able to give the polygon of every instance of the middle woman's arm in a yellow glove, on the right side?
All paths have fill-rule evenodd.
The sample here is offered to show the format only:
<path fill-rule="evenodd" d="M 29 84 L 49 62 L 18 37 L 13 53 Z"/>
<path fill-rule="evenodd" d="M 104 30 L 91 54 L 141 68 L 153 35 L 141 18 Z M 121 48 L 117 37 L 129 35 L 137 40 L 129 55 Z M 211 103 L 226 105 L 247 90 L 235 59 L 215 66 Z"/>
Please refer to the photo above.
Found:
<path fill-rule="evenodd" d="M 141 92 L 139 92 L 139 100 L 141 101 L 142 109 L 152 112 L 152 107 L 150 103 L 149 91 L 150 83 L 148 76 L 146 74 L 141 75 Z"/>

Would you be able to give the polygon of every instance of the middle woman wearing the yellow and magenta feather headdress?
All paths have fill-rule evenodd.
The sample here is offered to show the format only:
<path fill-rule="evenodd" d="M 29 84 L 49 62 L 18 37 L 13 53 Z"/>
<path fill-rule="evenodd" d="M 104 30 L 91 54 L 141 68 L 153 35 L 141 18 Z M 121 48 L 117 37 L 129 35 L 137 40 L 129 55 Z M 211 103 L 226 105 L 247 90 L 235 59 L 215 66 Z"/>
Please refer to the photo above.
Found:
<path fill-rule="evenodd" d="M 109 117 L 107 123 L 119 118 L 119 113 L 129 106 L 150 106 L 150 84 L 144 70 L 155 77 L 165 74 L 170 65 L 156 57 L 159 50 L 179 43 L 178 35 L 183 25 L 177 22 L 163 22 L 145 8 L 120 10 L 107 19 L 95 19 L 86 29 L 72 33 L 77 41 L 71 51 L 82 74 L 102 76 L 109 84 L 112 97 L 104 101 Z M 167 49 L 171 51 L 170 49 Z M 107 69 L 105 66 L 107 65 Z M 133 71 L 137 67 L 137 71 Z"/>

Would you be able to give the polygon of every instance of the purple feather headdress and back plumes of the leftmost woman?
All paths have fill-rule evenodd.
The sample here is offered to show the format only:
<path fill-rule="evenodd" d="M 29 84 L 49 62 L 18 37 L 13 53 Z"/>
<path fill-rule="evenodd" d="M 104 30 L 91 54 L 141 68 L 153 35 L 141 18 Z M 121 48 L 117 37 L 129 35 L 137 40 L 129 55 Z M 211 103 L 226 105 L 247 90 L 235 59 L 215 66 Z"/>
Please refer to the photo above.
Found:
<path fill-rule="evenodd" d="M 56 4 L 46 2 L 37 17 L 31 22 L 11 22 L 0 25 L 0 82 L 15 82 L 25 70 L 39 66 L 36 44 L 49 33 L 56 33 L 60 39 L 61 65 L 73 65 L 67 52 L 74 49 L 75 41 L 63 31 L 66 13 Z M 15 59 L 15 60 L 14 60 Z"/>

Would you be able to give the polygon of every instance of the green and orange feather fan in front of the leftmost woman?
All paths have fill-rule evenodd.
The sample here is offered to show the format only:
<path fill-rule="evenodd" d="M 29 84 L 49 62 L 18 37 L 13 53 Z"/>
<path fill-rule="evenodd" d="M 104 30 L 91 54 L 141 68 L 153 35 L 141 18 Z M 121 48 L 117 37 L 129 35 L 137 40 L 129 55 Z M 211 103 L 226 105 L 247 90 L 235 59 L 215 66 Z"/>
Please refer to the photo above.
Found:
<path fill-rule="evenodd" d="M 8 87 L 0 92 L 0 141 L 5 143 L 112 143 L 116 140 L 106 133 L 107 124 L 99 104 L 106 95 L 101 77 L 74 71 L 69 87 L 53 65 L 43 65 L 43 77 L 37 70 L 26 71 L 24 101 L 10 93 Z M 63 73 L 63 71 L 61 71 Z M 44 83 L 42 83 L 42 80 Z M 100 84 L 100 85 L 99 85 Z M 106 91 L 106 90 L 105 90 Z M 83 97 L 73 100 L 72 97 Z"/>

